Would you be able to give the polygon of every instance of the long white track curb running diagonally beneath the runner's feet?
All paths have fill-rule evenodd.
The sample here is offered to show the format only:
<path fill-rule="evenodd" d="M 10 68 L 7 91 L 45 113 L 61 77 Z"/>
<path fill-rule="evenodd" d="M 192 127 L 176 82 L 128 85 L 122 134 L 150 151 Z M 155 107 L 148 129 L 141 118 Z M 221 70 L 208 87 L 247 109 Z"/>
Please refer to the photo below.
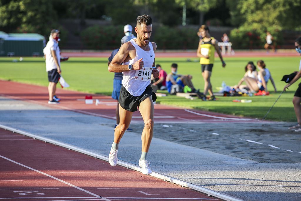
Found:
<path fill-rule="evenodd" d="M 100 155 L 100 154 L 97 154 L 97 153 L 93 153 L 93 152 L 87 151 L 85 149 L 79 148 L 77 146 L 73 146 L 73 145 L 70 145 L 70 144 L 67 144 L 67 143 L 62 143 L 62 142 L 59 142 L 59 141 L 56 141 L 56 140 L 52 140 L 52 139 L 47 138 L 47 137 L 42 137 L 42 136 L 34 135 L 34 134 L 28 133 L 26 131 L 15 129 L 15 128 L 12 128 L 12 127 L 8 127 L 8 126 L 2 125 L 2 124 L 0 124 L 0 128 L 3 128 L 5 130 L 10 130 L 13 133 L 22 134 L 23 136 L 32 137 L 35 140 L 41 140 L 41 141 L 44 141 L 45 143 L 51 143 L 51 144 L 54 144 L 54 145 L 58 145 L 58 146 L 67 148 L 69 150 L 74 150 L 74 151 L 77 151 L 77 152 L 80 152 L 80 153 L 92 156 L 95 159 L 101 159 L 101 160 L 104 160 L 104 161 L 109 161 L 109 159 L 108 159 L 107 156 Z M 126 167 L 128 169 L 132 169 L 132 170 L 136 170 L 136 171 L 142 172 L 142 168 L 140 168 L 140 167 L 138 167 L 136 165 L 127 163 L 127 162 L 118 161 L 117 164 L 120 165 L 120 166 Z M 210 189 L 205 188 L 205 187 L 201 187 L 201 186 L 198 186 L 198 185 L 195 185 L 195 184 L 188 183 L 186 181 L 182 181 L 182 180 L 177 179 L 177 178 L 169 177 L 168 175 L 165 175 L 165 174 L 153 172 L 150 175 L 154 176 L 154 177 L 157 177 L 157 178 L 160 178 L 160 179 L 163 179 L 164 181 L 169 181 L 169 182 L 181 185 L 182 187 L 188 187 L 188 188 L 191 188 L 193 190 L 205 193 L 208 196 L 213 196 L 213 197 L 216 197 L 216 198 L 219 198 L 219 199 L 223 199 L 223 200 L 227 200 L 227 201 L 243 201 L 241 199 L 238 199 L 238 198 L 233 197 L 233 196 L 229 196 L 229 195 L 224 194 L 224 193 L 219 193 L 219 192 L 210 190 Z"/>

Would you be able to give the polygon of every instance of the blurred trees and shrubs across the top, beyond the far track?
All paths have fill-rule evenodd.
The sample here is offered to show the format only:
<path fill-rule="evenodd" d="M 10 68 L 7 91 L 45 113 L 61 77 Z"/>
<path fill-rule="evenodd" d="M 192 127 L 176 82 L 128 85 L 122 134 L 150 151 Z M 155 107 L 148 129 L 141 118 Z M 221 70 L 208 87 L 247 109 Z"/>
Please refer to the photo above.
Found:
<path fill-rule="evenodd" d="M 300 0 L 0 0 L 0 30 L 39 33 L 61 30 L 61 49 L 115 49 L 123 26 L 138 15 L 153 18 L 158 49 L 197 49 L 201 24 L 213 37 L 227 33 L 234 49 L 263 49 L 265 31 L 277 48 L 293 48 L 301 35 Z"/>

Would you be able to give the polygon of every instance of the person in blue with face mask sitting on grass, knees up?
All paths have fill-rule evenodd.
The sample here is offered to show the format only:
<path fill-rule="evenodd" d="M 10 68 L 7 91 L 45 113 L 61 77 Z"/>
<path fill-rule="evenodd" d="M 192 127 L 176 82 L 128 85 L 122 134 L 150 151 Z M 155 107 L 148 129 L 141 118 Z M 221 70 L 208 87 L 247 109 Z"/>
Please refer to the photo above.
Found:
<path fill-rule="evenodd" d="M 192 93 L 196 93 L 197 90 L 194 88 L 191 79 L 191 75 L 180 75 L 177 74 L 178 64 L 173 63 L 171 65 L 171 72 L 166 77 L 166 88 L 168 93 L 174 94 L 172 92 L 172 86 L 175 85 L 179 88 L 176 92 L 183 92 L 183 88 L 188 86 L 191 89 Z"/>

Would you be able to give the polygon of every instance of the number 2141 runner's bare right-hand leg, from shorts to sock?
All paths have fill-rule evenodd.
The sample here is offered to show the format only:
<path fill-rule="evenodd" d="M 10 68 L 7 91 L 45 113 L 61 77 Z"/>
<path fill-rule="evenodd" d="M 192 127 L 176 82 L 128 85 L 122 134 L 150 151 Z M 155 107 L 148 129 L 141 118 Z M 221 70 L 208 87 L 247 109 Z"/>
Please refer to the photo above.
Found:
<path fill-rule="evenodd" d="M 154 128 L 154 103 L 152 96 L 147 97 L 139 105 L 139 111 L 144 121 L 144 128 L 141 135 L 142 152 L 148 152 L 153 137 Z"/>

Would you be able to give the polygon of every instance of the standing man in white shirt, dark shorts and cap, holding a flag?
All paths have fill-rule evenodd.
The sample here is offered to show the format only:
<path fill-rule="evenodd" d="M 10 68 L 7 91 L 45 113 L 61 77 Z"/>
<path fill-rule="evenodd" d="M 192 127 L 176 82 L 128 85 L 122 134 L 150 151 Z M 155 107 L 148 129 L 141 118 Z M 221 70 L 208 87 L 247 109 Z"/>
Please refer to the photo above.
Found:
<path fill-rule="evenodd" d="M 51 30 L 49 41 L 43 49 L 46 59 L 46 71 L 48 72 L 48 104 L 59 104 L 59 99 L 55 96 L 55 90 L 58 80 L 61 77 L 61 55 L 58 47 L 58 40 L 60 38 L 60 30 Z"/>

